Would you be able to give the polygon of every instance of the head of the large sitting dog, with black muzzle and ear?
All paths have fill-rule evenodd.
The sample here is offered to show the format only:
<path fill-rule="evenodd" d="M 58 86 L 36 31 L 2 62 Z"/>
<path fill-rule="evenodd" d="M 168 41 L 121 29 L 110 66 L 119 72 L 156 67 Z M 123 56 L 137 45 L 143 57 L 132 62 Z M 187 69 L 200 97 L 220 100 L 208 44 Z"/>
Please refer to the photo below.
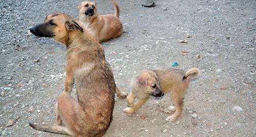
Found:
<path fill-rule="evenodd" d="M 68 33 L 74 30 L 83 32 L 83 29 L 67 14 L 48 15 L 44 22 L 29 29 L 37 37 L 50 37 L 65 43 Z"/>

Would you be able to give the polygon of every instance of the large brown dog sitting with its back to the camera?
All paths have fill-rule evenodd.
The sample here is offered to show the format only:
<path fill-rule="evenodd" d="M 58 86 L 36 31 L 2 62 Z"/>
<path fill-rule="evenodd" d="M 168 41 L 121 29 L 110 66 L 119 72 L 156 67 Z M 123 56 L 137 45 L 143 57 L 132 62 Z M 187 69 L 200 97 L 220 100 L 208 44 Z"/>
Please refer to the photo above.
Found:
<path fill-rule="evenodd" d="M 103 47 L 67 14 L 49 15 L 30 31 L 67 46 L 65 92 L 57 99 L 57 125 L 30 126 L 71 136 L 102 136 L 112 121 L 116 90 Z M 74 83 L 78 101 L 70 95 Z"/>

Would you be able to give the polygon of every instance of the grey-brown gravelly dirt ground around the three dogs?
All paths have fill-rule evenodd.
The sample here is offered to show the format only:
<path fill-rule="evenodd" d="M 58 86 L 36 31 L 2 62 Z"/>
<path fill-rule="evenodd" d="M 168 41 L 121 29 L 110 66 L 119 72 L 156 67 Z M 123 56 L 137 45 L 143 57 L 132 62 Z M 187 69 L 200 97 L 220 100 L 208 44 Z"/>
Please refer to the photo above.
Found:
<path fill-rule="evenodd" d="M 1 136 L 61 136 L 27 122 L 56 124 L 66 49 L 29 28 L 52 13 L 77 19 L 80 2 L 0 1 Z M 130 79 L 140 70 L 175 61 L 175 68 L 198 68 L 201 75 L 190 82 L 175 122 L 166 122 L 172 114 L 159 109 L 173 105 L 170 94 L 148 100 L 133 117 L 122 112 L 126 100 L 116 98 L 104 136 L 256 136 L 256 1 L 156 0 L 153 8 L 141 7 L 142 0 L 117 2 L 125 32 L 102 45 L 122 91 L 130 91 Z M 114 14 L 111 1 L 97 0 L 97 7 L 100 14 Z"/>

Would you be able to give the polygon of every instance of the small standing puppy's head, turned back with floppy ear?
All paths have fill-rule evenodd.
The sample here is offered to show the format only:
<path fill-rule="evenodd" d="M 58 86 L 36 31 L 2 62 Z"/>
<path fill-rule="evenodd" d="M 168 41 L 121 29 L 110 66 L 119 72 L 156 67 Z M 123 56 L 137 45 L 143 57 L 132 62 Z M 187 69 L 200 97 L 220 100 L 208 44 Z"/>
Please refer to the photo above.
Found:
<path fill-rule="evenodd" d="M 143 72 L 136 80 L 136 83 L 143 89 L 146 94 L 151 94 L 156 98 L 162 98 L 164 92 L 160 88 L 160 81 L 154 71 L 148 70 Z"/>

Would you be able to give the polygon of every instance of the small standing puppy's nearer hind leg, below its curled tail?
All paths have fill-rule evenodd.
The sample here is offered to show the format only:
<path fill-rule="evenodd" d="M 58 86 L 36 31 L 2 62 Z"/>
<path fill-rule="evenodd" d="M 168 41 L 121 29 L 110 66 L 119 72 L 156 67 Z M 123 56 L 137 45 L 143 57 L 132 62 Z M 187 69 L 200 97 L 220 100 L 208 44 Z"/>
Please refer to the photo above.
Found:
<path fill-rule="evenodd" d="M 175 107 L 176 111 L 172 116 L 167 117 L 165 119 L 166 121 L 173 122 L 180 116 L 180 114 L 183 111 L 183 99 L 184 99 L 183 95 L 180 95 L 178 92 L 173 92 L 172 101 L 176 106 Z"/>

